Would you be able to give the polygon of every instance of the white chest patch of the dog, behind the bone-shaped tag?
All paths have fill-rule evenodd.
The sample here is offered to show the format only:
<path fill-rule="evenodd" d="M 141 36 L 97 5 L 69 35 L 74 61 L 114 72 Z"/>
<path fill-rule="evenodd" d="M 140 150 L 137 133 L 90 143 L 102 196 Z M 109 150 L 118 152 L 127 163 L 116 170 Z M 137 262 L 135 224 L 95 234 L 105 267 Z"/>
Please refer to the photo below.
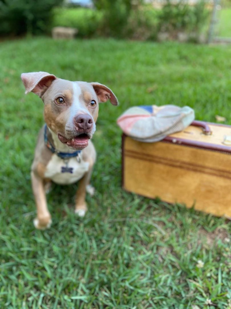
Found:
<path fill-rule="evenodd" d="M 88 169 L 89 163 L 83 161 L 81 154 L 80 162 L 77 162 L 76 157 L 64 161 L 54 154 L 47 164 L 45 177 L 57 184 L 73 184 L 81 179 Z"/>

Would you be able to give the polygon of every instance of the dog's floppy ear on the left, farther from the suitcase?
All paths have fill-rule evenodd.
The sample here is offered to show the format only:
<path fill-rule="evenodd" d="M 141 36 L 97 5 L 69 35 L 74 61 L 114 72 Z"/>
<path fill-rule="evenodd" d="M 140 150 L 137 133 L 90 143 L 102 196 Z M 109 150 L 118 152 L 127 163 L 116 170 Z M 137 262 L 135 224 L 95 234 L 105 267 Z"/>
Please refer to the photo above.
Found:
<path fill-rule="evenodd" d="M 26 88 L 26 94 L 30 91 L 34 92 L 40 97 L 47 90 L 54 79 L 55 75 L 49 74 L 47 72 L 32 72 L 32 73 L 22 73 L 21 74 L 22 83 Z"/>

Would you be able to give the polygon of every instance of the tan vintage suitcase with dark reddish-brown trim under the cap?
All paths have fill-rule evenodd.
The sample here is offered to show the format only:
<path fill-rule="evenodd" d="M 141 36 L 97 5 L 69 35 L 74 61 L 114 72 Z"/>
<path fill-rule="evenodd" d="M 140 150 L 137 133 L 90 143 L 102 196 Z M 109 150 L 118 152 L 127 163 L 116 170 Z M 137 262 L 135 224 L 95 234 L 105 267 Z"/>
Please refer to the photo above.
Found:
<path fill-rule="evenodd" d="M 122 137 L 123 188 L 231 218 L 231 126 L 194 121 L 156 143 Z"/>

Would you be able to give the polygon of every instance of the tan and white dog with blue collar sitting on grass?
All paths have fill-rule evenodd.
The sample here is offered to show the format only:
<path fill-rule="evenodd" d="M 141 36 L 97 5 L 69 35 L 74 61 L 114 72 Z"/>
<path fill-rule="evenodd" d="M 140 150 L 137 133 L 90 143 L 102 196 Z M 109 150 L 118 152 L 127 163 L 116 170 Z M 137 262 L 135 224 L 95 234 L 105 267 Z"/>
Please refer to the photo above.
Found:
<path fill-rule="evenodd" d="M 44 102 L 46 125 L 40 130 L 34 161 L 31 167 L 32 188 L 37 206 L 34 226 L 45 229 L 51 225 L 47 208 L 46 187 L 73 184 L 79 180 L 75 212 L 84 216 L 87 210 L 86 190 L 96 153 L 91 142 L 98 117 L 99 102 L 118 101 L 114 93 L 99 83 L 70 82 L 46 72 L 23 73 L 26 93 L 32 91 Z"/>

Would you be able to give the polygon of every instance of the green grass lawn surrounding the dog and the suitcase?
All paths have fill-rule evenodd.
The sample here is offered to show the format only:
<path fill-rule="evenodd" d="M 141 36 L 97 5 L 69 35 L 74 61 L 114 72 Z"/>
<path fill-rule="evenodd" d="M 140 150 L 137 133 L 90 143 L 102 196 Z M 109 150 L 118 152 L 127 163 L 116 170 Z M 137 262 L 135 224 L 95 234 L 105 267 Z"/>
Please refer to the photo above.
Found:
<path fill-rule="evenodd" d="M 177 104 L 199 120 L 219 114 L 231 124 L 230 53 L 231 46 L 103 39 L 1 42 L 0 308 L 230 308 L 230 223 L 124 192 L 115 123 L 132 105 Z M 20 80 L 39 70 L 106 84 L 120 101 L 100 106 L 89 211 L 74 215 L 76 185 L 53 185 L 46 231 L 34 229 L 30 188 L 43 103 L 25 96 Z"/>

